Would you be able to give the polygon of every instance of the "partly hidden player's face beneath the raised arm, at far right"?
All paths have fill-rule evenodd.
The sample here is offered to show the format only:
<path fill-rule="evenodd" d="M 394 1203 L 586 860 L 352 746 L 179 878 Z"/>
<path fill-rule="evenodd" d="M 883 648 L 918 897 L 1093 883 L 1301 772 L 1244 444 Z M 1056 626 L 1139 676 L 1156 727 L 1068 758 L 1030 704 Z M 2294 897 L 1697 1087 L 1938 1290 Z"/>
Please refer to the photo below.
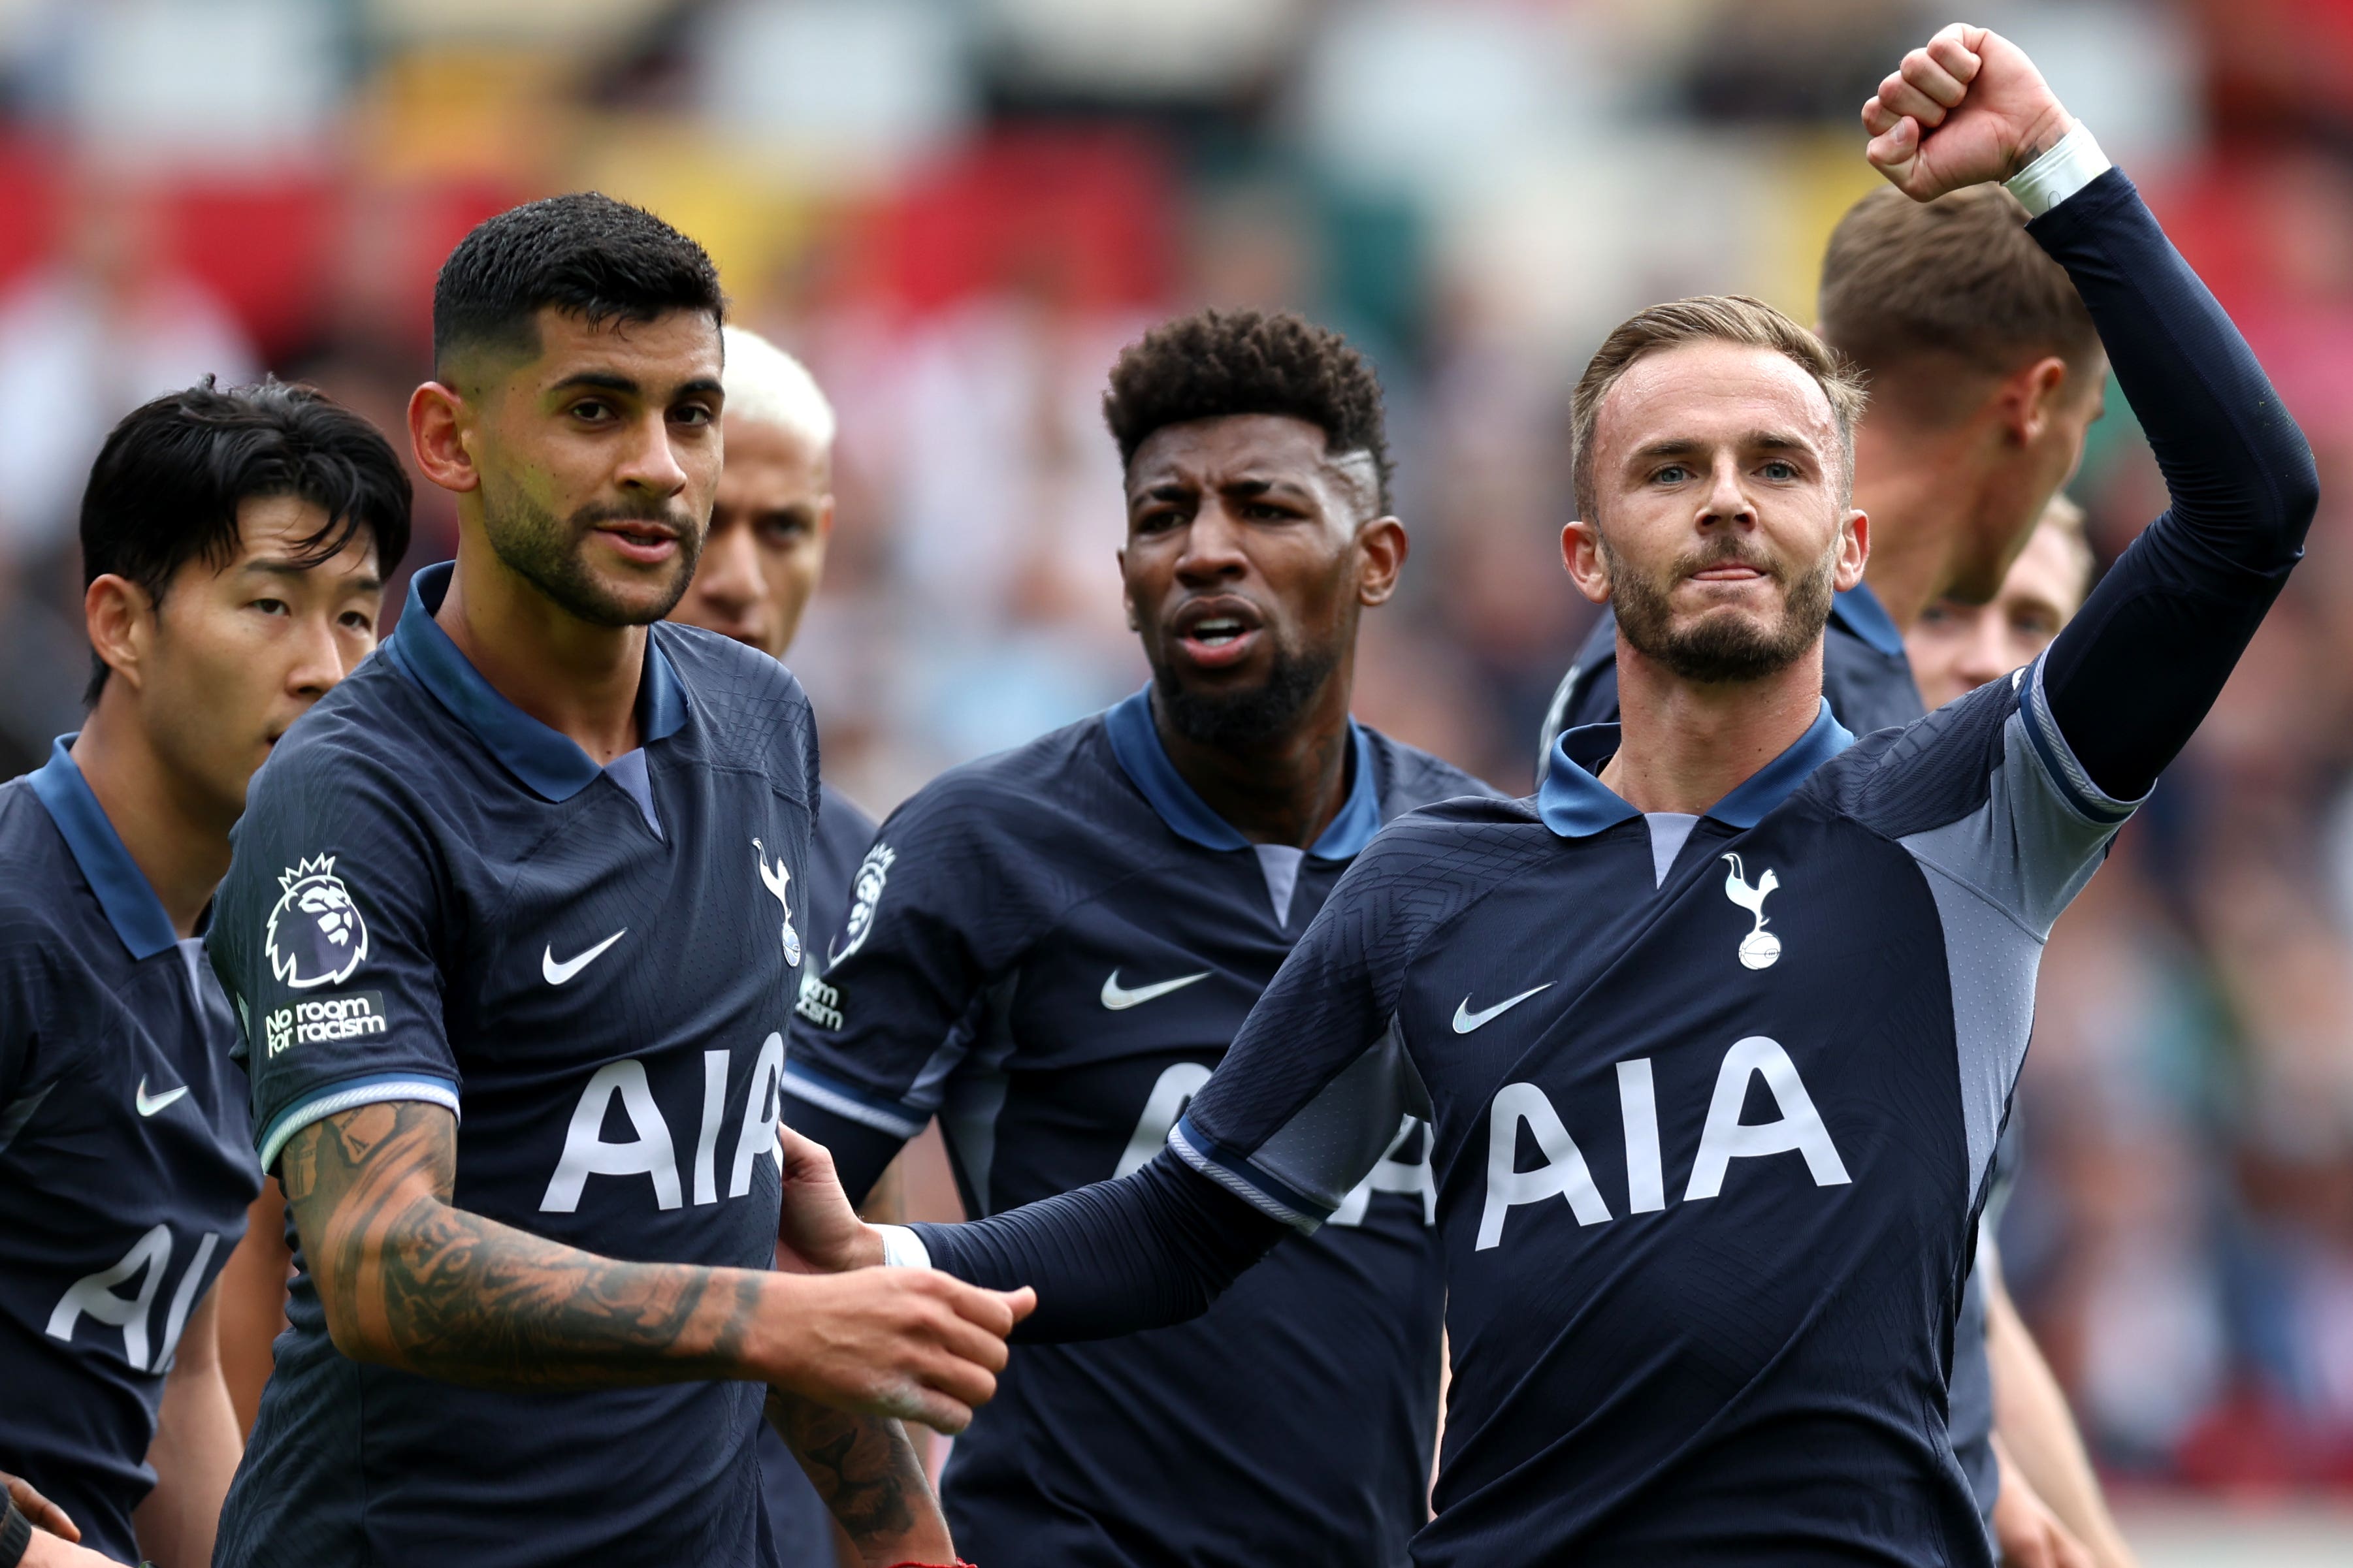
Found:
<path fill-rule="evenodd" d="M 1920 698 L 1944 708 L 1988 679 L 2031 665 L 2082 609 L 2082 597 L 2092 592 L 2092 564 L 2082 508 L 2052 496 L 1991 599 L 1939 599 L 1904 632 Z"/>

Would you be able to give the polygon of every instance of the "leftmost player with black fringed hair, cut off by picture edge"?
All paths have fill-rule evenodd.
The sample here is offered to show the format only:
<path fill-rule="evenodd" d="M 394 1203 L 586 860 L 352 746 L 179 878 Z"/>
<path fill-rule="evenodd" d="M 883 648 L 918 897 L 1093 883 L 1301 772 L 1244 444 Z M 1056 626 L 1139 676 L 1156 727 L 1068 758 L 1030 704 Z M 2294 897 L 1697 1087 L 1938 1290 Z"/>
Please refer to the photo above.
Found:
<path fill-rule="evenodd" d="M 0 785 L 0 1469 L 75 1526 L 40 1514 L 26 1563 L 212 1561 L 242 1446 L 212 1284 L 261 1178 L 198 931 L 407 538 L 393 449 L 301 388 L 158 397 L 92 465 L 89 717 Z"/>

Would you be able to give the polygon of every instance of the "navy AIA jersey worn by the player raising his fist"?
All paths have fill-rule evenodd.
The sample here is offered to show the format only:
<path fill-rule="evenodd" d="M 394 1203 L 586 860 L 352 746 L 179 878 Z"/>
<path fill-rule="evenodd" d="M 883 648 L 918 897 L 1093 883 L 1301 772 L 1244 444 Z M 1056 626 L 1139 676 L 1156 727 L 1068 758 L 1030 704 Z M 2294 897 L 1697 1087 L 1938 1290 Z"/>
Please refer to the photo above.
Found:
<path fill-rule="evenodd" d="M 1332 896 L 1174 1147 L 1306 1225 L 1433 1119 L 1417 1563 L 1986 1561 L 1960 1281 L 2042 938 L 2132 809 L 2033 675 L 1861 745 L 1824 703 L 1699 818 L 1577 729 L 1534 802 L 1409 816 Z"/>

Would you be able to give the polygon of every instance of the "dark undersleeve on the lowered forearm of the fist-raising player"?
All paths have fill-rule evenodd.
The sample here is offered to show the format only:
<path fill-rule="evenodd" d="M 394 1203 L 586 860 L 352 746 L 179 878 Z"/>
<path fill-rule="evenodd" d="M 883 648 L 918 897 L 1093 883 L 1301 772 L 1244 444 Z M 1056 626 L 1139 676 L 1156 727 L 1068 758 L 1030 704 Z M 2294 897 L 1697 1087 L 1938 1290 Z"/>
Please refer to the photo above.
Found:
<path fill-rule="evenodd" d="M 1016 1340 L 1108 1340 L 1200 1316 L 1292 1227 L 1160 1150 L 1115 1182 L 913 1232 L 936 1269 L 995 1291 L 1038 1288 Z"/>

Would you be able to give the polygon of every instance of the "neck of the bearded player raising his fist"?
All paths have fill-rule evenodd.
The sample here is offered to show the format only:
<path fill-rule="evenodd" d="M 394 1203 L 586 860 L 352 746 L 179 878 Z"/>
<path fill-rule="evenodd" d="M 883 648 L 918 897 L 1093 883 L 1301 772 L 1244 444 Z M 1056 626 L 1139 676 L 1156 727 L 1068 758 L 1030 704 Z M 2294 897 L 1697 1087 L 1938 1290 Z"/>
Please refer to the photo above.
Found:
<path fill-rule="evenodd" d="M 1699 816 L 1795 745 L 1821 715 L 1821 639 L 1753 682 L 1694 682 L 1619 632 L 1619 752 L 1600 780 L 1635 811 Z"/>

